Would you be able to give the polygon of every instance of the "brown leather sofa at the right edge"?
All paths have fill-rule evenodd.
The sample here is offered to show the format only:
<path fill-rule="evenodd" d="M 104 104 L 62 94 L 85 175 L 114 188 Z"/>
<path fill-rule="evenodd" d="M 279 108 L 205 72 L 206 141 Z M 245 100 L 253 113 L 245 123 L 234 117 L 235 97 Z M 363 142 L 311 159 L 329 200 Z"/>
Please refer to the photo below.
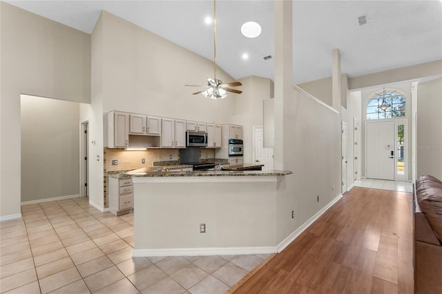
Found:
<path fill-rule="evenodd" d="M 442 182 L 423 175 L 413 186 L 414 293 L 442 293 Z"/>

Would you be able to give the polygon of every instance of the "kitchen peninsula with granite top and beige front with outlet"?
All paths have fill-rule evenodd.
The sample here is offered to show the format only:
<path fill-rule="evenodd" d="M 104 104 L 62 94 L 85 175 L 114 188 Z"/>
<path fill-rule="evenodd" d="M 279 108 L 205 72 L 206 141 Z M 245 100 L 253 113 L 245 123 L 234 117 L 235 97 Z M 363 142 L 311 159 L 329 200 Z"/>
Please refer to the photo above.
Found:
<path fill-rule="evenodd" d="M 134 170 L 133 256 L 274 253 L 291 171 Z"/>

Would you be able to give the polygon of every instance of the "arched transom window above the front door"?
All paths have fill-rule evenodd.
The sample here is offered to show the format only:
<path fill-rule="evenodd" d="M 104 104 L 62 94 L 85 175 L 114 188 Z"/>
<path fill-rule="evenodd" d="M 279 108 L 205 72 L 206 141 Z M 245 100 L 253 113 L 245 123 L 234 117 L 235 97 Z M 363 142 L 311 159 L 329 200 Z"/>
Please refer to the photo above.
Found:
<path fill-rule="evenodd" d="M 367 119 L 388 119 L 405 117 L 404 92 L 393 88 L 383 88 L 368 97 Z"/>

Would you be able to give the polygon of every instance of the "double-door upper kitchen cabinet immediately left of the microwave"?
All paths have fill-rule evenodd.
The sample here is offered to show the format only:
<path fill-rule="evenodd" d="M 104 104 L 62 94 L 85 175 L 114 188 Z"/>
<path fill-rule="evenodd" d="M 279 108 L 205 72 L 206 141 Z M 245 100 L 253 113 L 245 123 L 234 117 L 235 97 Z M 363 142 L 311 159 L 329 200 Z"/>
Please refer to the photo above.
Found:
<path fill-rule="evenodd" d="M 186 121 L 162 119 L 162 148 L 186 148 Z"/>

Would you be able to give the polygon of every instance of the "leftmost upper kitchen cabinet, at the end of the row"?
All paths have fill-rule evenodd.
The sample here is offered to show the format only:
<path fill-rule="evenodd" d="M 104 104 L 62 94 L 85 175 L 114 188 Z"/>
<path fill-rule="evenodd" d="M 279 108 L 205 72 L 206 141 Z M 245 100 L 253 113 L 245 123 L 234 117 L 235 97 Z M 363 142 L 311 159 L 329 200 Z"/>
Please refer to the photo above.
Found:
<path fill-rule="evenodd" d="M 108 112 L 108 147 L 126 148 L 129 143 L 128 113 Z"/>

